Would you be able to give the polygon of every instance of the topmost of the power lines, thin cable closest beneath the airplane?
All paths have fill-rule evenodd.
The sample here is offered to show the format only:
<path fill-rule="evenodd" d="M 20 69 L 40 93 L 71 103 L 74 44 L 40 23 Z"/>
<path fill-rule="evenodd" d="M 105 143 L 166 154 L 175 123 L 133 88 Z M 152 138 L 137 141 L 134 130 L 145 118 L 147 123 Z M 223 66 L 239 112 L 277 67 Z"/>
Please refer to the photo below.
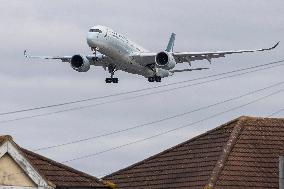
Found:
<path fill-rule="evenodd" d="M 148 87 L 148 88 L 144 88 L 144 89 L 126 91 L 126 92 L 115 93 L 115 94 L 110 94 L 110 95 L 105 95 L 105 96 L 100 96 L 100 97 L 92 97 L 92 98 L 86 98 L 86 99 L 81 99 L 81 100 L 63 102 L 63 103 L 58 103 L 58 104 L 51 104 L 51 105 L 46 105 L 46 106 L 39 106 L 39 107 L 33 107 L 33 108 L 27 108 L 27 109 L 20 109 L 20 110 L 14 110 L 14 111 L 9 111 L 9 112 L 3 112 L 3 113 L 0 113 L 0 116 L 9 115 L 9 114 L 16 114 L 16 113 L 21 113 L 21 112 L 34 111 L 34 110 L 40 110 L 40 109 L 47 109 L 47 108 L 52 108 L 52 107 L 65 106 L 65 105 L 70 105 L 70 104 L 75 104 L 75 103 L 80 103 L 80 102 L 86 102 L 86 101 L 110 98 L 110 97 L 121 96 L 121 95 L 126 95 L 126 94 L 132 94 L 132 93 L 142 92 L 142 91 L 146 91 L 146 90 L 152 90 L 152 89 L 167 87 L 167 86 L 171 86 L 171 85 L 176 85 L 176 84 L 181 84 L 181 83 L 197 81 L 197 80 L 202 80 L 202 79 L 208 79 L 208 78 L 217 77 L 217 76 L 221 76 L 221 75 L 241 72 L 241 71 L 255 69 L 255 68 L 259 68 L 259 67 L 265 67 L 265 66 L 269 66 L 269 65 L 283 63 L 283 62 L 284 62 L 284 60 L 279 60 L 279 61 L 270 62 L 270 63 L 266 63 L 266 64 L 261 64 L 261 65 L 257 65 L 257 66 L 251 66 L 251 67 L 247 67 L 247 68 L 236 69 L 236 70 L 232 70 L 232 71 L 229 71 L 229 72 L 223 72 L 223 73 L 219 73 L 219 74 L 214 74 L 214 75 L 209 75 L 209 76 L 205 76 L 205 77 L 199 77 L 199 78 L 195 78 L 195 79 L 174 82 L 174 83 L 160 85 L 160 86 L 155 86 L 155 87 Z"/>

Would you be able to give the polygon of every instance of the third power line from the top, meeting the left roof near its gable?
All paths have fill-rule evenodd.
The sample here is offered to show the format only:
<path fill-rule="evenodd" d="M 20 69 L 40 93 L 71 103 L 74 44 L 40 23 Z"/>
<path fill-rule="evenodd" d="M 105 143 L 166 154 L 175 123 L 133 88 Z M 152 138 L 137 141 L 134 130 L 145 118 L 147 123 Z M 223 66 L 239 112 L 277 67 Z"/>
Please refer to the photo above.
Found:
<path fill-rule="evenodd" d="M 242 95 L 233 97 L 233 98 L 229 98 L 229 99 L 226 99 L 226 100 L 223 100 L 223 101 L 219 101 L 219 102 L 214 103 L 214 104 L 210 104 L 210 105 L 207 105 L 207 106 L 203 106 L 203 107 L 197 108 L 197 109 L 195 109 L 195 110 L 191 110 L 191 111 L 183 112 L 183 113 L 176 114 L 176 115 L 173 115 L 173 116 L 165 117 L 165 118 L 162 118 L 162 119 L 159 119 L 159 120 L 156 120 L 156 121 L 147 122 L 147 123 L 144 123 L 144 124 L 136 125 L 136 126 L 134 126 L 134 127 L 129 127 L 129 128 L 126 128 L 126 129 L 121 129 L 121 130 L 117 130 L 117 131 L 112 131 L 112 132 L 109 132 L 109 133 L 105 133 L 105 134 L 101 134 L 101 135 L 97 135 L 97 136 L 93 136 L 93 137 L 88 137 L 88 138 L 73 140 L 73 141 L 66 142 L 66 143 L 57 144 L 57 145 L 42 147 L 42 148 L 35 149 L 35 150 L 33 150 L 33 151 L 42 151 L 42 150 L 47 150 L 47 149 L 58 148 L 58 147 L 62 147 L 62 146 L 67 146 L 67 145 L 71 145 L 71 144 L 76 144 L 76 143 L 80 143 L 80 142 L 85 142 L 85 141 L 89 141 L 89 140 L 94 140 L 94 139 L 97 139 L 97 138 L 106 137 L 106 136 L 110 136 L 110 135 L 114 135 L 114 134 L 118 134 L 118 133 L 130 131 L 130 130 L 142 128 L 142 127 L 145 127 L 145 126 L 148 126 L 148 125 L 153 125 L 153 124 L 155 124 L 155 123 L 167 121 L 167 120 L 174 119 L 174 118 L 181 117 L 181 116 L 185 116 L 185 115 L 188 115 L 188 114 L 191 114 L 191 113 L 194 113 L 194 112 L 198 112 L 198 111 L 201 111 L 201 110 L 205 110 L 205 109 L 208 109 L 208 108 L 211 108 L 211 107 L 220 105 L 220 104 L 224 104 L 224 103 L 226 103 L 226 102 L 230 102 L 230 101 L 233 101 L 233 100 L 237 100 L 237 99 L 240 99 L 240 98 L 243 98 L 243 97 L 246 97 L 246 96 L 255 94 L 255 93 L 259 93 L 259 92 L 261 92 L 261 91 L 264 91 L 264 90 L 267 90 L 267 89 L 270 89 L 270 88 L 273 88 L 273 87 L 280 86 L 280 85 L 282 85 L 282 84 L 284 84 L 283 81 L 282 81 L 282 82 L 278 82 L 278 83 L 273 84 L 273 85 L 269 85 L 269 86 L 264 87 L 264 88 L 261 88 L 261 89 L 257 89 L 257 90 L 254 90 L 254 91 L 250 91 L 250 92 L 248 92 L 248 93 L 245 93 L 245 94 L 242 94 Z"/>

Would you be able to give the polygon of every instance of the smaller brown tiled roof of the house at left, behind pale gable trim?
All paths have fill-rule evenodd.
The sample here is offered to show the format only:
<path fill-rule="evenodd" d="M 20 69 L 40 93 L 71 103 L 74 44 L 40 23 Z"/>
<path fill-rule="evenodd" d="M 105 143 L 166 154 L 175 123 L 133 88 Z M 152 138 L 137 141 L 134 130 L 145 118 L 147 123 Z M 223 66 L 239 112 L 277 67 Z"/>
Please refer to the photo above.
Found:
<path fill-rule="evenodd" d="M 31 163 L 31 165 L 56 188 L 60 187 L 87 187 L 87 188 L 110 188 L 107 182 L 96 177 L 75 170 L 71 167 L 55 162 L 44 156 L 19 147 L 13 142 L 11 136 L 0 136 L 0 145 L 5 141 L 11 141 L 20 153 Z"/>

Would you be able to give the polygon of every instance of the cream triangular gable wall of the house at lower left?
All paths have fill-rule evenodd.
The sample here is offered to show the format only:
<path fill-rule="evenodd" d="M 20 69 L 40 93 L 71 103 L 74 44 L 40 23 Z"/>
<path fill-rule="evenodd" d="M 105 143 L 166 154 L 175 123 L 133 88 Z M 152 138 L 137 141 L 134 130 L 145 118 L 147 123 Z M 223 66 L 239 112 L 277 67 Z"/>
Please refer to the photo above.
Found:
<path fill-rule="evenodd" d="M 0 185 L 36 187 L 35 183 L 7 153 L 0 158 Z"/>

